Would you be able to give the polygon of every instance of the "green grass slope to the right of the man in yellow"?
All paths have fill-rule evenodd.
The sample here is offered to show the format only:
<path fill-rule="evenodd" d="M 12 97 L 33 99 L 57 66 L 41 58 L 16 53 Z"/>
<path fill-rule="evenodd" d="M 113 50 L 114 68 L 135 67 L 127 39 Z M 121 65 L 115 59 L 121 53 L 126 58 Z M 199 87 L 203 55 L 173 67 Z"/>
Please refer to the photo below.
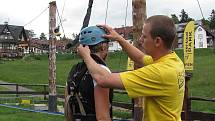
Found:
<path fill-rule="evenodd" d="M 183 50 L 178 55 L 183 60 Z M 189 95 L 215 98 L 215 49 L 195 49 L 193 77 L 189 81 Z M 215 103 L 192 101 L 192 110 L 215 113 Z"/>

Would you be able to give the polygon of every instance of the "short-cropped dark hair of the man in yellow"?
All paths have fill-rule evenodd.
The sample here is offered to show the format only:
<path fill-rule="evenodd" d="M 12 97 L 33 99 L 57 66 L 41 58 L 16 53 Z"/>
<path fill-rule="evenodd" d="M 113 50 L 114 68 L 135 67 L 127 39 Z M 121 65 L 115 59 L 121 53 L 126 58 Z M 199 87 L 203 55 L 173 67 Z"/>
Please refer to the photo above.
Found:
<path fill-rule="evenodd" d="M 152 38 L 160 37 L 166 48 L 171 49 L 176 37 L 176 27 L 173 20 L 164 15 L 155 15 L 149 17 L 145 23 L 149 23 L 151 26 Z"/>

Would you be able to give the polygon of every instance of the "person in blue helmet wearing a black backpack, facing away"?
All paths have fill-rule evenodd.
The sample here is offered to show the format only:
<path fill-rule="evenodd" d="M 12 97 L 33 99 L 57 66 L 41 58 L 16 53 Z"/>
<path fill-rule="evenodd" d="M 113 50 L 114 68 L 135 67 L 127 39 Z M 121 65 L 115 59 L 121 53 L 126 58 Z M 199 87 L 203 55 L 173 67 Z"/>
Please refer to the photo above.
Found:
<path fill-rule="evenodd" d="M 95 62 L 110 72 L 105 64 L 109 42 L 108 39 L 103 38 L 105 34 L 107 33 L 104 29 L 97 26 L 86 27 L 80 32 L 79 43 L 89 46 L 91 57 Z M 80 75 L 80 78 L 74 77 L 74 75 Z M 76 89 L 79 92 L 77 93 L 78 96 L 72 98 L 74 83 L 79 86 Z M 76 64 L 71 69 L 65 92 L 65 114 L 68 121 L 74 119 L 80 119 L 81 121 L 111 121 L 112 107 L 110 104 L 113 96 L 112 90 L 97 85 L 96 81 L 89 74 L 84 61 Z M 68 99 L 68 97 L 70 98 Z M 76 117 L 76 114 L 79 114 L 79 117 Z"/>

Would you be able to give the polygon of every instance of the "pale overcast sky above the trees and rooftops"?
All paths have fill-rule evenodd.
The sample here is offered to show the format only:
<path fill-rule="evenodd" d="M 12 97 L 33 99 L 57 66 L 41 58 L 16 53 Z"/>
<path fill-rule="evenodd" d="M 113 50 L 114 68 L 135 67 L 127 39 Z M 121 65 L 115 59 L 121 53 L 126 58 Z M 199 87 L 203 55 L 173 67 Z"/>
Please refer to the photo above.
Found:
<path fill-rule="evenodd" d="M 197 0 L 146 0 L 147 16 L 156 14 L 168 15 L 180 14 L 182 9 L 195 20 L 202 15 Z M 0 24 L 8 21 L 10 25 L 25 26 L 25 29 L 34 30 L 39 37 L 40 33 L 48 34 L 49 2 L 51 0 L 0 0 Z M 88 0 L 56 0 L 60 16 L 62 16 L 65 35 L 71 37 L 72 33 L 78 33 L 82 26 Z M 127 0 L 109 0 L 107 24 L 112 27 L 125 25 Z M 215 0 L 199 0 L 203 15 L 206 19 L 215 9 Z M 104 24 L 107 0 L 94 0 L 90 25 Z M 64 6 L 64 7 L 63 7 Z M 37 17 L 42 11 L 44 11 Z M 128 0 L 128 13 L 126 25 L 132 25 L 132 0 Z M 32 19 L 35 19 L 31 22 Z M 57 23 L 59 19 L 57 18 Z M 61 29 L 62 31 L 62 29 Z"/>

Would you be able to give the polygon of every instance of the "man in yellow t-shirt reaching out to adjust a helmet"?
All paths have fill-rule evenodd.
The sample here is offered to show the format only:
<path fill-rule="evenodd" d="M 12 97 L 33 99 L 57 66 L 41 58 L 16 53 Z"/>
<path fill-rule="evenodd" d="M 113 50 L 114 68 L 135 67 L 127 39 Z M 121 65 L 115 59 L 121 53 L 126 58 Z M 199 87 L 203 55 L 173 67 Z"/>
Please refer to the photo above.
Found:
<path fill-rule="evenodd" d="M 133 98 L 145 97 L 143 121 L 181 121 L 185 72 L 182 61 L 171 50 L 176 36 L 173 21 L 163 15 L 145 20 L 138 42 L 144 53 L 111 27 L 100 26 L 109 33 L 104 37 L 117 41 L 141 68 L 122 73 L 109 73 L 90 57 L 88 46 L 80 45 L 77 51 L 95 81 L 102 87 L 125 89 Z M 146 64 L 147 56 L 152 57 L 152 64 Z"/>

